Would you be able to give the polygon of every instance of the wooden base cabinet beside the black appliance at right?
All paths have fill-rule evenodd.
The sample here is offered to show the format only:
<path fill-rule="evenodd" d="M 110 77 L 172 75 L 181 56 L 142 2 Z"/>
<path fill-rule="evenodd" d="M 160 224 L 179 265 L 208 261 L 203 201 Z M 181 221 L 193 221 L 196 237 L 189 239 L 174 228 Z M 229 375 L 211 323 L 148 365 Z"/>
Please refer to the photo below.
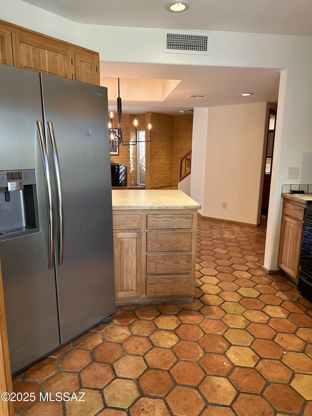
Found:
<path fill-rule="evenodd" d="M 284 198 L 278 267 L 293 281 L 299 277 L 306 201 Z"/>

